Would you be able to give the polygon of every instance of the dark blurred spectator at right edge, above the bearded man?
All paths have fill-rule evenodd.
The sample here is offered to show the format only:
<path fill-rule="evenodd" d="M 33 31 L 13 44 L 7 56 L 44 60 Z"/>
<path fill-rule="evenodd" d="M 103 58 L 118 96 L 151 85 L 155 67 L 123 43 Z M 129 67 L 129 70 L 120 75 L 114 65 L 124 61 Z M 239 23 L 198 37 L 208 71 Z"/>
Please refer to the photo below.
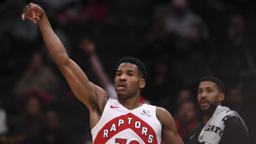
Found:
<path fill-rule="evenodd" d="M 252 44 L 245 35 L 245 21 L 240 15 L 230 16 L 228 35 L 216 50 L 216 74 L 225 79 L 228 84 L 247 82 L 255 78 L 255 60 L 250 51 Z"/>

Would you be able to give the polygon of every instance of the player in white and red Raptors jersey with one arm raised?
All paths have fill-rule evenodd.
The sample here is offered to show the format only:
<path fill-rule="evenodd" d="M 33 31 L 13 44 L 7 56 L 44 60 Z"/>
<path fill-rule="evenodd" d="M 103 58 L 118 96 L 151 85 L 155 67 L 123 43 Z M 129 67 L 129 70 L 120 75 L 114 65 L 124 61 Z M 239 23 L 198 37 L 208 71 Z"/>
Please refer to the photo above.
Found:
<path fill-rule="evenodd" d="M 22 19 L 25 18 L 38 23 L 51 57 L 75 96 L 89 109 L 93 143 L 183 143 L 168 111 L 139 103 L 139 94 L 146 84 L 146 70 L 142 62 L 128 57 L 118 63 L 114 79 L 118 98 L 109 98 L 103 89 L 92 84 L 80 67 L 70 60 L 40 6 L 26 6 L 22 15 Z"/>

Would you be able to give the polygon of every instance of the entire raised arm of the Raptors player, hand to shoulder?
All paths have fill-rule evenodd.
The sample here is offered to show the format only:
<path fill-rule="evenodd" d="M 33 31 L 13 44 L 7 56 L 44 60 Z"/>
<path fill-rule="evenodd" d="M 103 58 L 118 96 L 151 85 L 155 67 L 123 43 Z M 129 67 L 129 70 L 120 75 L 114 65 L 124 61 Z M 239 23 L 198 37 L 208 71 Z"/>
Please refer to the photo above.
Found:
<path fill-rule="evenodd" d="M 46 47 L 60 71 L 63 73 L 63 76 L 68 81 L 75 96 L 77 96 L 89 110 L 99 111 L 100 109 L 100 112 L 102 112 L 102 101 L 104 100 L 103 95 L 106 95 L 105 91 L 89 82 L 80 67 L 68 57 L 63 43 L 61 43 L 60 39 L 51 28 L 43 9 L 36 4 L 29 4 L 26 6 L 22 18 L 23 20 L 28 18 L 33 23 L 38 22 Z"/>

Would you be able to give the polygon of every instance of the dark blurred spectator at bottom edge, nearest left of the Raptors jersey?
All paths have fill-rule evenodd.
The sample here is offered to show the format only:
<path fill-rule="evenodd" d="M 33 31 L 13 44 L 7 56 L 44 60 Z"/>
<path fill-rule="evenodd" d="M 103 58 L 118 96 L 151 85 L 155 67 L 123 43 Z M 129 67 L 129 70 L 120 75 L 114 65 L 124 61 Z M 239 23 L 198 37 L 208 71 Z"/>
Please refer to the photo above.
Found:
<path fill-rule="evenodd" d="M 61 127 L 58 113 L 55 111 L 46 112 L 46 121 L 41 133 L 42 144 L 71 144 L 70 138 Z"/>

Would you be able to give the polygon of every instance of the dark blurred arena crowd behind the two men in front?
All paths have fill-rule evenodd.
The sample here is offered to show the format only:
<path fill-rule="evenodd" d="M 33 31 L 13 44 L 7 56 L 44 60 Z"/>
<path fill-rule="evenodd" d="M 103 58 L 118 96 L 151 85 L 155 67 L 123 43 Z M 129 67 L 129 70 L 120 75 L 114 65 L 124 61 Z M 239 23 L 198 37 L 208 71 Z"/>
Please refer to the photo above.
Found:
<path fill-rule="evenodd" d="M 219 77 L 223 105 L 240 113 L 256 143 L 252 0 L 2 0 L 0 144 L 92 143 L 86 107 L 51 60 L 38 26 L 21 21 L 30 2 L 46 11 L 68 55 L 104 89 L 91 52 L 109 84 L 121 57 L 142 60 L 149 72 L 142 96 L 170 111 L 181 138 L 201 121 L 199 78 Z"/>

